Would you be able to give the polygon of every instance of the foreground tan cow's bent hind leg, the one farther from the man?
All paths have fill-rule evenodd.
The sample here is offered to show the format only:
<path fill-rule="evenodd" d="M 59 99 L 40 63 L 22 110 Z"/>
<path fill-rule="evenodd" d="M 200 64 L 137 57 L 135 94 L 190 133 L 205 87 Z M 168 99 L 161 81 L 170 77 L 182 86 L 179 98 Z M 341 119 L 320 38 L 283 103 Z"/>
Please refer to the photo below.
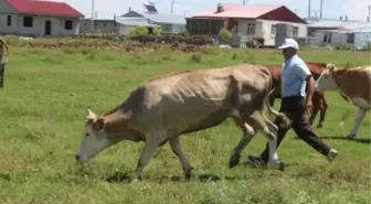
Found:
<path fill-rule="evenodd" d="M 255 130 L 251 125 L 253 121 L 250 119 L 244 120 L 240 117 L 233 117 L 234 122 L 240 127 L 243 135 L 237 146 L 233 149 L 231 158 L 230 158 L 230 168 L 234 168 L 240 163 L 241 152 L 245 149 L 245 147 L 250 143 L 250 141 L 255 136 Z M 246 122 L 247 121 L 247 122 Z"/>

